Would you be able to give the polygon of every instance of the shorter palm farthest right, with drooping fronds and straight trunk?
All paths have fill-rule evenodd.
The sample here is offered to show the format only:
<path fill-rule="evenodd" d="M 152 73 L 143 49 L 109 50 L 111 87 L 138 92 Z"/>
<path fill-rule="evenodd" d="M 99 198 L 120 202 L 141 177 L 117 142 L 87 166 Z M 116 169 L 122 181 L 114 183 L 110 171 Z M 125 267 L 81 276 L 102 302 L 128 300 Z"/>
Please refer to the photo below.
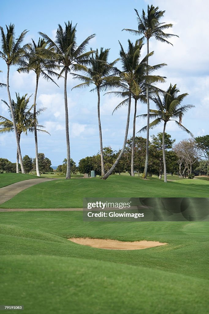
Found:
<path fill-rule="evenodd" d="M 157 110 L 150 109 L 149 115 L 151 118 L 155 118 L 153 122 L 149 124 L 149 128 L 154 128 L 159 123 L 164 122 L 163 126 L 163 164 L 164 164 L 164 182 L 167 182 L 167 175 L 166 175 L 166 160 L 165 160 L 165 127 L 168 121 L 175 121 L 175 123 L 180 127 L 182 130 L 186 131 L 190 135 L 191 132 L 187 130 L 182 124 L 182 117 L 186 111 L 195 107 L 193 105 L 183 105 L 181 106 L 180 103 L 184 100 L 184 98 L 188 95 L 187 93 L 178 95 L 180 92 L 177 89 L 176 84 L 172 86 L 170 84 L 169 88 L 165 92 L 163 96 L 163 100 L 160 99 L 159 95 L 153 99 Z M 147 117 L 147 114 L 140 115 L 143 117 Z M 177 121 L 176 119 L 179 119 Z M 140 131 L 145 131 L 147 126 L 143 127 Z M 140 132 L 139 131 L 139 132 Z"/>

